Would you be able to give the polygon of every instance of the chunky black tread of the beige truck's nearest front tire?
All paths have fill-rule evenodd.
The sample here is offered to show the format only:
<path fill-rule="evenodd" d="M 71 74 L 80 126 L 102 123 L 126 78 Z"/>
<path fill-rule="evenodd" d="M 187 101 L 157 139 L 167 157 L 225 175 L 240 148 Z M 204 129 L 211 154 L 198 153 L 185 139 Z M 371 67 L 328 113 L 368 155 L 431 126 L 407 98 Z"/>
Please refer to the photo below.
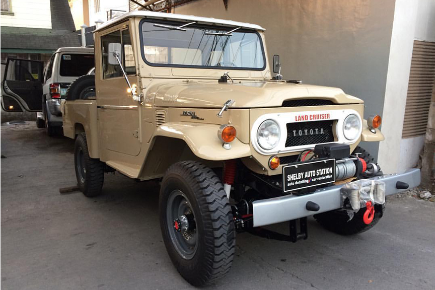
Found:
<path fill-rule="evenodd" d="M 162 185 L 171 173 L 181 175 L 196 193 L 201 218 L 207 227 L 203 239 L 206 259 L 200 261 L 202 265 L 199 267 L 202 270 L 184 275 L 184 278 L 195 286 L 212 284 L 228 273 L 234 258 L 236 232 L 229 200 L 221 180 L 200 162 L 182 161 L 173 164 L 165 174 Z"/>

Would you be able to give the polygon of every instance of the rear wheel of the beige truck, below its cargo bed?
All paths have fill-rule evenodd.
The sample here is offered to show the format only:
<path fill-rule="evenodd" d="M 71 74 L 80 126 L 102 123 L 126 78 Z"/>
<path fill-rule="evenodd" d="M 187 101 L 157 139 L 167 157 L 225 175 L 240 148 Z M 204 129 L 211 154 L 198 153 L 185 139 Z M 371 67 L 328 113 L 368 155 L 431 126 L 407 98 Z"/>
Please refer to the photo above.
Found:
<path fill-rule="evenodd" d="M 94 197 L 101 193 L 104 182 L 105 164 L 99 159 L 89 157 L 85 132 L 76 138 L 74 147 L 74 167 L 76 169 L 77 184 L 87 197 Z"/>

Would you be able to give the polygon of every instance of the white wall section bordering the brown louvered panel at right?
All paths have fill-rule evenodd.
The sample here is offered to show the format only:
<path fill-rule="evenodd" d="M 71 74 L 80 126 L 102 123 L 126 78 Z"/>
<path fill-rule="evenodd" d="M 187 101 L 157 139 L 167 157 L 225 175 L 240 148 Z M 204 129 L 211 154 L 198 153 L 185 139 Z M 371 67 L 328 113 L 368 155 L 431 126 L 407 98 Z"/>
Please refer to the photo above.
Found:
<path fill-rule="evenodd" d="M 378 160 L 386 173 L 415 167 L 424 145 L 424 136 L 402 139 L 414 40 L 435 41 L 435 1 L 396 0 L 382 125 L 387 141 Z"/>

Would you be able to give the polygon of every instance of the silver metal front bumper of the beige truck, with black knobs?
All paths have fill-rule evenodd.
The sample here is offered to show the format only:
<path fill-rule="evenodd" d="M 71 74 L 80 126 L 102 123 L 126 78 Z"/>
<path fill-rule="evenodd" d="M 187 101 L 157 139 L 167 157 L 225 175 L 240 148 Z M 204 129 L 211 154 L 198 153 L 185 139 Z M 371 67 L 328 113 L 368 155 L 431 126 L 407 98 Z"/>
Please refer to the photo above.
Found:
<path fill-rule="evenodd" d="M 410 169 L 402 174 L 389 174 L 371 179 L 385 182 L 385 195 L 399 193 L 420 185 L 420 170 Z M 397 189 L 398 181 L 409 185 L 408 189 Z M 305 216 L 341 208 L 340 189 L 343 184 L 316 190 L 306 195 L 286 195 L 275 198 L 257 200 L 252 203 L 254 227 L 291 221 Z M 308 201 L 319 204 L 319 211 L 305 208 Z"/>

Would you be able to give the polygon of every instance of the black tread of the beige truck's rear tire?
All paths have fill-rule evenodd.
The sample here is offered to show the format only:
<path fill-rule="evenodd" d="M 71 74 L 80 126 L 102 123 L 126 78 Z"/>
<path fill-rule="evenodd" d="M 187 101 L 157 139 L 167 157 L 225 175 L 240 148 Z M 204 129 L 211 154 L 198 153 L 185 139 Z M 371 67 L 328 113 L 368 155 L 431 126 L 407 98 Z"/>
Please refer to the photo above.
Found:
<path fill-rule="evenodd" d="M 89 156 L 88 143 L 86 141 L 86 133 L 81 132 L 77 135 L 76 146 L 81 143 L 83 154 L 86 162 L 86 184 L 81 184 L 77 174 L 77 182 L 83 194 L 87 197 L 94 197 L 101 193 L 101 188 L 104 183 L 104 163 L 99 159 L 94 159 Z M 77 169 L 76 169 L 77 170 Z"/>

